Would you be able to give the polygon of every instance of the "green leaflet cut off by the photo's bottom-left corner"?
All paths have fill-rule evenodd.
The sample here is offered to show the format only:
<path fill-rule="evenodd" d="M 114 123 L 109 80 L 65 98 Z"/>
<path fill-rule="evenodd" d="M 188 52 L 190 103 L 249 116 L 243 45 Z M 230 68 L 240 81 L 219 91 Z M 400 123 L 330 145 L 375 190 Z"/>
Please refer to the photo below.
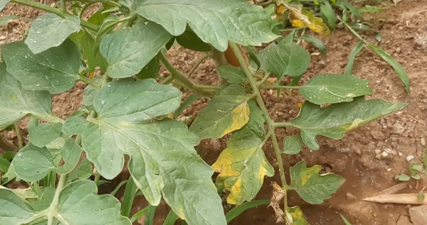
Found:
<path fill-rule="evenodd" d="M 0 189 L 0 224 L 20 225 L 34 216 L 32 210 L 18 195 L 9 190 Z"/>

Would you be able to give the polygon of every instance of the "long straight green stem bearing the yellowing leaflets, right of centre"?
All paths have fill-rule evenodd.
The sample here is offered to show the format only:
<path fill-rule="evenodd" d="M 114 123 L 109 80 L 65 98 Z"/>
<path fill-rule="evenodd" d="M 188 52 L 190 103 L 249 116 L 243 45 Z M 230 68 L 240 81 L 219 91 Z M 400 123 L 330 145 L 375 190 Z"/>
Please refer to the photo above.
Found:
<path fill-rule="evenodd" d="M 245 59 L 243 58 L 241 50 L 238 48 L 236 43 L 229 42 L 228 44 L 230 45 L 231 49 L 233 50 L 234 55 L 236 55 L 238 62 L 241 65 L 246 65 L 246 62 L 245 62 Z M 260 90 L 258 89 L 256 80 L 253 77 L 253 73 L 246 66 L 243 66 L 242 70 L 243 70 L 243 72 L 245 72 L 245 75 L 248 78 L 249 83 L 251 84 L 251 87 L 253 89 L 253 94 L 256 94 L 255 99 L 258 102 L 258 106 L 260 107 L 261 111 L 263 111 L 265 121 L 268 125 L 268 132 L 271 133 L 270 137 L 271 137 L 271 140 L 273 142 L 273 147 L 275 150 L 276 159 L 278 160 L 280 181 L 282 183 L 283 190 L 285 190 L 284 203 L 285 203 L 285 212 L 287 212 L 287 210 L 288 210 L 288 197 L 287 197 L 287 195 L 288 194 L 286 194 L 286 192 L 288 191 L 288 185 L 286 184 L 285 168 L 283 167 L 283 160 L 282 160 L 282 151 L 279 148 L 278 140 L 275 136 L 274 121 L 268 115 L 267 107 L 265 107 L 263 97 L 261 97 Z M 285 223 L 287 224 L 288 222 L 285 220 Z M 290 225 L 290 224 L 287 224 L 287 225 Z"/>

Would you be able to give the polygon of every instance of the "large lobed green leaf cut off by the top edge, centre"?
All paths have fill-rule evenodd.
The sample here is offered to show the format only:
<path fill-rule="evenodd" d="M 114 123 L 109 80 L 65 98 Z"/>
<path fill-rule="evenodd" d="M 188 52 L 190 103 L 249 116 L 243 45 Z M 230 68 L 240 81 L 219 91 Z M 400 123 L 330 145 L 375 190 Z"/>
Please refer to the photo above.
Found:
<path fill-rule="evenodd" d="M 228 47 L 228 40 L 241 45 L 268 43 L 278 36 L 270 31 L 271 18 L 262 7 L 239 0 L 148 0 L 139 1 L 136 12 L 149 21 L 163 26 L 179 36 L 186 24 L 205 43 L 220 51 Z M 159 16 L 162 13 L 167 17 Z"/>

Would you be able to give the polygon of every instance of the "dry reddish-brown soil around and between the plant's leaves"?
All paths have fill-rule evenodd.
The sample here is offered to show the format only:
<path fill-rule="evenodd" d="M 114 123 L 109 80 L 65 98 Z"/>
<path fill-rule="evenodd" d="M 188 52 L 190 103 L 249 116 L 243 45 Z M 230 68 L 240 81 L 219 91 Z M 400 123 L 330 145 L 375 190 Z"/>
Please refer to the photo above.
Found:
<path fill-rule="evenodd" d="M 51 4 L 51 2 L 45 2 Z M 388 4 L 388 1 L 384 1 Z M 375 4 L 363 1 L 357 6 Z M 378 3 L 376 3 L 378 4 Z M 16 4 L 8 4 L 0 13 L 0 17 L 9 15 L 37 18 L 41 15 L 38 10 Z M 374 39 L 371 32 L 362 33 L 369 42 L 379 45 L 386 52 L 391 53 L 398 62 L 401 62 L 408 73 L 411 82 L 411 92 L 406 93 L 404 85 L 397 77 L 393 68 L 371 50 L 364 48 L 354 61 L 354 75 L 369 80 L 373 94 L 368 98 L 381 98 L 389 101 L 408 101 L 408 106 L 395 114 L 350 131 L 342 140 L 318 138 L 320 150 L 314 151 L 304 148 L 302 153 L 294 156 L 283 156 L 287 168 L 300 160 L 309 166 L 322 165 L 324 172 L 335 172 L 347 181 L 331 199 L 320 205 L 309 205 L 300 199 L 297 194 L 290 192 L 289 204 L 300 205 L 302 211 L 312 225 L 343 224 L 339 214 L 356 225 L 384 224 L 399 225 L 411 224 L 408 218 L 408 209 L 412 206 L 401 204 L 376 204 L 364 202 L 365 197 L 375 196 L 381 190 L 396 185 L 394 176 L 408 172 L 406 158 L 413 157 L 413 161 L 420 163 L 423 151 L 426 148 L 427 138 L 427 0 L 403 0 L 397 6 L 391 6 L 383 13 L 371 14 L 367 17 L 374 23 L 381 42 Z M 384 19 L 384 20 L 380 20 Z M 376 23 L 375 23 L 376 22 Z M 0 27 L 0 45 L 21 40 L 28 27 L 28 21 L 14 19 L 7 26 Z M 314 35 L 314 34 L 313 34 Z M 321 74 L 342 74 L 347 65 L 349 53 L 359 40 L 344 29 L 337 29 L 328 37 L 316 35 L 326 45 L 327 56 L 317 54 L 318 50 L 302 43 L 310 53 L 312 62 L 309 70 L 300 84 L 305 84 L 310 77 Z M 201 53 L 195 53 L 176 46 L 169 50 L 167 56 L 173 65 L 182 72 L 189 72 L 192 65 Z M 161 75 L 169 75 L 162 70 Z M 201 64 L 191 79 L 198 84 L 218 84 L 214 62 L 206 60 Z M 290 82 L 285 79 L 284 83 Z M 80 106 L 85 84 L 78 82 L 73 89 L 53 97 L 53 113 L 65 118 Z M 299 111 L 298 103 L 303 99 L 292 91 L 292 94 L 282 92 L 277 97 L 275 92 L 262 92 L 270 116 L 275 121 L 290 121 Z M 184 98 L 188 96 L 184 93 Z M 184 116 L 195 116 L 206 106 L 207 99 L 200 99 L 184 111 Z M 26 134 L 26 121 L 20 123 L 23 135 Z M 276 131 L 279 142 L 285 136 L 297 133 L 294 128 L 280 128 Z M 4 132 L 5 138 L 16 143 L 14 131 Z M 226 138 L 202 141 L 197 147 L 202 158 L 209 164 L 214 163 L 221 150 L 226 148 Z M 265 145 L 265 153 L 270 163 L 275 166 L 278 174 L 277 160 L 271 143 Z M 385 157 L 383 155 L 386 155 Z M 113 180 L 112 185 L 102 189 L 102 192 L 112 190 L 120 180 L 127 179 L 123 173 Z M 278 175 L 266 177 L 265 185 L 256 199 L 270 199 L 272 190 L 270 182 L 279 181 Z M 418 192 L 427 185 L 427 177 L 419 182 L 409 182 L 408 189 L 403 192 Z M 120 192 L 117 194 L 120 197 Z M 142 209 L 147 202 L 142 197 L 135 200 L 135 209 Z M 227 209 L 229 206 L 226 207 Z M 166 204 L 158 207 L 157 223 L 162 224 L 169 208 Z M 400 218 L 400 219 L 399 219 Z M 419 218 L 418 218 L 419 219 Z M 427 221 L 427 218 L 421 218 Z M 414 221 L 414 219 L 413 219 Z M 144 222 L 139 222 L 144 224 Z M 250 209 L 234 219 L 231 224 L 275 224 L 273 209 L 265 206 Z"/>

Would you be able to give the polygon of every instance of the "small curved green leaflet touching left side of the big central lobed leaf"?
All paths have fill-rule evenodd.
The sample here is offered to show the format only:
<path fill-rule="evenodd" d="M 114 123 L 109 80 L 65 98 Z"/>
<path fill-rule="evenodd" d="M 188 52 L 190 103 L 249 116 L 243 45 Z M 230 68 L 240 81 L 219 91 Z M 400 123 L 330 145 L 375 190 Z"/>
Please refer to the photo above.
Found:
<path fill-rule="evenodd" d="M 74 170 L 80 160 L 80 155 L 83 149 L 71 138 L 65 141 L 63 148 L 60 149 L 60 156 L 64 160 L 64 165 L 58 168 L 56 172 L 60 175 L 65 175 Z"/>

